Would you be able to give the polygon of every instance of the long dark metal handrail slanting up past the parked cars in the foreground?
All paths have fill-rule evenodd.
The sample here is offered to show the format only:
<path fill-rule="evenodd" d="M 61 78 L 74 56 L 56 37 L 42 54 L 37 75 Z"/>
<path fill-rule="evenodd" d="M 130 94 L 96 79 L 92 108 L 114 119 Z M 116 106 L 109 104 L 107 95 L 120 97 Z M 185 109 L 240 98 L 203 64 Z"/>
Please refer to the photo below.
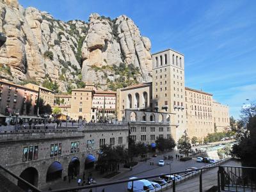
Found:
<path fill-rule="evenodd" d="M 52 190 L 51 192 L 68 192 L 68 191 L 77 191 L 77 190 L 81 190 L 81 189 L 95 189 L 95 191 L 97 190 L 97 188 L 99 187 L 104 187 L 104 186 L 110 186 L 110 185 L 115 185 L 115 184 L 122 184 L 122 183 L 127 183 L 127 182 L 132 182 L 132 186 L 133 186 L 133 182 L 136 180 L 141 180 L 141 179 L 158 179 L 159 177 L 162 177 L 164 175 L 180 175 L 180 173 L 184 173 L 183 175 L 180 175 L 181 178 L 180 179 L 174 179 L 174 180 L 170 180 L 168 182 L 166 182 L 166 184 L 161 184 L 161 191 L 163 189 L 168 189 L 168 188 L 172 188 L 173 192 L 175 192 L 176 189 L 176 185 L 179 184 L 180 182 L 184 182 L 185 180 L 191 179 L 193 177 L 195 177 L 196 175 L 200 176 L 200 192 L 202 192 L 202 173 L 206 172 L 207 170 L 210 170 L 212 168 L 217 168 L 218 166 L 220 166 L 221 163 L 224 163 L 225 161 L 228 161 L 230 158 L 227 159 L 222 159 L 221 161 L 218 161 L 216 163 L 212 163 L 212 164 L 208 164 L 207 166 L 204 166 L 203 168 L 198 168 L 192 171 L 182 171 L 182 172 L 172 172 L 172 173 L 164 173 L 164 174 L 160 174 L 160 175 L 150 175 L 147 177 L 140 177 L 140 178 L 136 178 L 136 179 L 125 179 L 125 180 L 117 180 L 117 181 L 113 181 L 113 182 L 105 182 L 102 184 L 93 184 L 93 185 L 89 185 L 89 186 L 77 186 L 77 187 L 73 187 L 73 188 L 65 188 L 65 189 L 55 189 Z M 155 191 L 157 191 L 158 189 L 154 189 Z M 153 190 L 153 191 L 154 191 Z M 160 189 L 159 189 L 160 190 Z M 152 190 L 149 190 L 152 191 Z M 46 191 L 46 192 L 50 192 L 50 191 Z"/>

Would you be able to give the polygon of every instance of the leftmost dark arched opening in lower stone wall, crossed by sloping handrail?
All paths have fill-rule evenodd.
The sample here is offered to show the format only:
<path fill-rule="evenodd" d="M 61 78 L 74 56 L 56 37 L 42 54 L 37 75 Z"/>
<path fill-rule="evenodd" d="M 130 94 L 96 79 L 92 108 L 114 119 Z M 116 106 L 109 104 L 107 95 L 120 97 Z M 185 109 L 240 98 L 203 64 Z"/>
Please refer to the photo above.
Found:
<path fill-rule="evenodd" d="M 20 173 L 20 177 L 26 181 L 28 181 L 33 186 L 37 187 L 38 184 L 38 172 L 36 168 L 29 167 L 26 168 L 22 173 Z M 1 181 L 0 181 L 1 182 Z M 18 181 L 18 186 L 23 189 L 24 191 L 28 191 L 29 186 L 24 184 L 23 182 Z"/>

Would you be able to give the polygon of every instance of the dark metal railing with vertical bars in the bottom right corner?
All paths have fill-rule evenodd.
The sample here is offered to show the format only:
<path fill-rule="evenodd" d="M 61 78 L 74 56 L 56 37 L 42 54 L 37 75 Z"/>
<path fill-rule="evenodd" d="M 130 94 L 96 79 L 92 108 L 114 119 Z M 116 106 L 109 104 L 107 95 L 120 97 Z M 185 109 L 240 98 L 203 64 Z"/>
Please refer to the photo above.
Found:
<path fill-rule="evenodd" d="M 253 191 L 256 189 L 256 168 L 220 166 L 218 180 L 222 191 Z"/>

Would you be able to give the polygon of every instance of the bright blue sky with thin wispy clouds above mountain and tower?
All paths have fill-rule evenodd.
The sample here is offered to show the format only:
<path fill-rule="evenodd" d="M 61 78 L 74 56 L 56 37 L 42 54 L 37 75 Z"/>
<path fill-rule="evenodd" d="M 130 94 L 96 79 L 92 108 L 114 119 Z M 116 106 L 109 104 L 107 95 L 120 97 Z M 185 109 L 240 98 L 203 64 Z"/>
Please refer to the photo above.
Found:
<path fill-rule="evenodd" d="M 214 94 L 239 118 L 246 99 L 256 100 L 256 1 L 20 0 L 56 19 L 88 21 L 90 13 L 127 15 L 150 38 L 152 52 L 185 55 L 186 86 Z"/>

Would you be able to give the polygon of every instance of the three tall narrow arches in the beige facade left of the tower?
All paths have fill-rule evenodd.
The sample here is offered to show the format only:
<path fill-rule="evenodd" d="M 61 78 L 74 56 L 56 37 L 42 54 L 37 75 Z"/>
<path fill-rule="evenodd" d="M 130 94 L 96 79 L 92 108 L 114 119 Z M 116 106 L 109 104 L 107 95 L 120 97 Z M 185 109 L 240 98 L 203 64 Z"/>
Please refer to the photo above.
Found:
<path fill-rule="evenodd" d="M 131 93 L 127 95 L 127 108 L 147 108 L 148 107 L 148 93 L 143 92 L 140 97 L 139 93 L 135 93 L 132 97 Z"/>

